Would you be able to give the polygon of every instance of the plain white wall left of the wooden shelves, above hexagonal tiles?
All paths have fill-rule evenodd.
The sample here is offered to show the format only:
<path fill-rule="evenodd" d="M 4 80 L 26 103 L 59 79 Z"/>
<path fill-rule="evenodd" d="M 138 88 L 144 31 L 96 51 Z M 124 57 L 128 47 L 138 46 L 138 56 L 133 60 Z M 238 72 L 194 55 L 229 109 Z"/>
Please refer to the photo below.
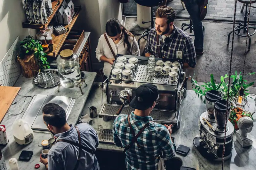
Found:
<path fill-rule="evenodd" d="M 26 21 L 21 0 L 0 0 L 0 61 L 4 58 L 17 36 L 23 40 L 28 29 L 22 28 Z"/>

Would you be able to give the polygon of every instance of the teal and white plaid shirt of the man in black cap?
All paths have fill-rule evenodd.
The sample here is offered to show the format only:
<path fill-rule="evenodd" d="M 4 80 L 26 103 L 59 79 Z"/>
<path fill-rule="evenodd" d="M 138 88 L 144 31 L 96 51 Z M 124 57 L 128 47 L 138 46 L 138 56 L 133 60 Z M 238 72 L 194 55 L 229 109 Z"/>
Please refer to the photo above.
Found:
<path fill-rule="evenodd" d="M 134 115 L 119 115 L 113 124 L 113 138 L 116 146 L 125 147 L 132 142 L 132 132 L 128 123 L 128 116 L 132 125 L 132 130 L 137 135 L 147 122 L 150 122 L 148 127 L 137 138 L 138 143 L 144 148 L 144 151 L 138 149 L 134 143 L 126 154 L 127 170 L 157 170 L 161 151 L 162 158 L 165 160 L 171 159 L 175 154 L 175 147 L 172 144 L 169 131 L 166 127 L 153 121 L 151 116 L 140 117 Z"/>

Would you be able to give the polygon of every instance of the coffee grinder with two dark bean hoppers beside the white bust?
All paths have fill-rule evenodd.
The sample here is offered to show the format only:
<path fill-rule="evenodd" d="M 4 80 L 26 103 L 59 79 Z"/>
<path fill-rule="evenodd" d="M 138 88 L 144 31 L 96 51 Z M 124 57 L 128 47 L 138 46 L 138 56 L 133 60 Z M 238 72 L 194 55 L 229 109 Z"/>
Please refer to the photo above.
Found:
<path fill-rule="evenodd" d="M 228 102 L 228 116 L 226 117 L 227 100 L 221 100 L 222 95 L 219 91 L 210 90 L 205 94 L 207 111 L 200 115 L 198 127 L 200 135 L 196 136 L 193 144 L 200 154 L 208 160 L 222 160 L 224 146 L 224 130 L 226 127 L 226 143 L 224 160 L 232 155 L 234 126 L 228 121 L 231 105 Z"/>

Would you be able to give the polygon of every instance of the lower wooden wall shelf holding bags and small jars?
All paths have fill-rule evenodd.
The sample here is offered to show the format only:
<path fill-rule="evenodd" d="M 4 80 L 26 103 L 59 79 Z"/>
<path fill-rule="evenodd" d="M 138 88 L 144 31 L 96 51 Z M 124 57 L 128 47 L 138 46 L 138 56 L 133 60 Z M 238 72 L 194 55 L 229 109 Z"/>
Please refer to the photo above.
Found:
<path fill-rule="evenodd" d="M 66 40 L 69 32 L 71 31 L 71 28 L 74 26 L 76 19 L 78 18 L 79 12 L 81 10 L 81 7 L 75 7 L 75 14 L 72 17 L 72 20 L 69 25 L 64 26 L 67 31 L 64 34 L 57 35 L 55 33 L 52 34 L 52 41 L 53 41 L 53 51 L 50 52 L 49 48 L 45 50 L 44 52 L 47 54 L 47 57 L 56 57 L 60 51 L 61 46 L 64 44 L 64 41 Z"/>

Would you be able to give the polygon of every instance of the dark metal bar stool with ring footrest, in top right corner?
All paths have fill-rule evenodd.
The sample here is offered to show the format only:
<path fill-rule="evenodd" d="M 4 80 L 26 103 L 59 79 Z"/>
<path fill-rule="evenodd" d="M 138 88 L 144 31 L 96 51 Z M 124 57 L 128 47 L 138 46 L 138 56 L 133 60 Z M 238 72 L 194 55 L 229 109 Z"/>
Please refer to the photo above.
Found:
<path fill-rule="evenodd" d="M 256 27 L 255 26 L 248 26 L 249 28 L 254 29 L 254 32 L 252 34 L 249 33 L 249 31 L 247 30 L 247 19 L 248 19 L 248 4 L 250 4 L 250 0 L 237 0 L 238 2 L 241 2 L 243 4 L 245 4 L 245 14 L 244 14 L 244 23 L 239 23 L 238 26 L 235 27 L 235 34 L 241 37 L 246 37 L 248 34 L 248 38 L 249 38 L 249 44 L 248 44 L 248 51 L 251 49 L 251 36 L 254 35 L 256 33 Z M 252 4 L 256 3 L 256 0 L 252 0 Z M 244 5 L 243 5 L 244 6 Z M 252 7 L 252 6 L 251 6 Z M 243 33 L 245 34 L 240 34 L 240 30 L 243 29 Z M 230 31 L 230 33 L 228 34 L 228 44 L 230 41 L 230 35 L 233 31 Z"/>

